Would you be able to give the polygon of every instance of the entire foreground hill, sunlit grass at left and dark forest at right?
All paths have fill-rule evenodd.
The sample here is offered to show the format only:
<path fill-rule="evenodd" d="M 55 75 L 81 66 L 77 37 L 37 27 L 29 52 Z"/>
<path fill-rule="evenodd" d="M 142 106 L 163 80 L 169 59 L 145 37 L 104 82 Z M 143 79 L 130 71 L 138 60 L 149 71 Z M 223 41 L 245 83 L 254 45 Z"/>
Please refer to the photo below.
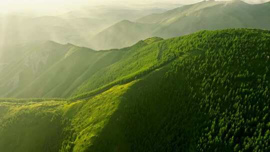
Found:
<path fill-rule="evenodd" d="M 162 54 L 153 57 L 161 56 L 159 66 L 146 66 L 149 72 L 89 99 L 1 101 L 0 149 L 270 150 L 269 31 L 200 31 L 158 40 L 142 50 L 154 52 L 154 56 Z M 139 61 L 136 64 L 147 63 Z M 42 134 L 41 123 L 46 134 L 59 135 L 49 138 Z M 26 135 L 16 128 L 25 130 Z M 16 138 L 9 132 L 16 132 Z M 42 140 L 29 140 L 37 139 L 38 132 Z"/>

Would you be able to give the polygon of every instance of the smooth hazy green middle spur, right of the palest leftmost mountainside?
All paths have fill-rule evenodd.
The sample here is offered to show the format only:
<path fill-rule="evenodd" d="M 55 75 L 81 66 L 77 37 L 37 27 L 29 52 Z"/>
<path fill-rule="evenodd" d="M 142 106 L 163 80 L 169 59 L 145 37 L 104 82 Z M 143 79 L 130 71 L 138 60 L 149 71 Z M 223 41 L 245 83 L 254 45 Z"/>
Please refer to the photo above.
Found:
<path fill-rule="evenodd" d="M 96 52 L 73 47 L 63 59 L 17 92 L 18 96 L 28 97 L 35 92 L 34 97 L 66 97 L 92 74 L 119 60 L 122 54 L 122 51 Z M 40 86 L 40 82 L 44 85 Z"/>

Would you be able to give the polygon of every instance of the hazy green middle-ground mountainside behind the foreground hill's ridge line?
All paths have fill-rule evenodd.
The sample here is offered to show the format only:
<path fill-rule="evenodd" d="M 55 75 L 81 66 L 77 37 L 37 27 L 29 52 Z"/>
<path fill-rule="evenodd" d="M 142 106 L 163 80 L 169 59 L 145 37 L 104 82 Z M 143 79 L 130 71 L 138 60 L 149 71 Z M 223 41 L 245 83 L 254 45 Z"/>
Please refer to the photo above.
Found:
<path fill-rule="evenodd" d="M 101 51 L 71 44 L 61 45 L 52 41 L 49 43 L 57 47 L 47 48 L 48 42 L 44 44 L 45 46 L 40 45 L 39 47 L 44 47 L 42 49 L 54 53 L 61 51 L 58 47 L 65 48 L 61 55 L 54 55 L 54 61 L 49 61 L 45 54 L 40 54 L 43 60 L 39 59 L 35 56 L 38 50 L 23 47 L 29 50 L 26 57 L 22 56 L 23 59 L 19 59 L 19 62 L 11 62 L 0 71 L 3 75 L 0 79 L 2 81 L 0 96 L 68 97 L 81 93 L 87 94 L 89 91 L 104 86 L 109 87 L 129 77 L 134 78 L 153 66 L 151 61 L 159 60 L 153 55 L 157 52 L 151 52 L 147 47 L 159 40 L 162 39 L 153 37 L 141 40 L 131 47 Z M 138 59 L 138 57 L 141 58 Z M 142 63 L 137 64 L 139 61 Z M 126 66 L 123 67 L 123 65 Z M 17 69 L 10 70 L 13 67 Z"/>

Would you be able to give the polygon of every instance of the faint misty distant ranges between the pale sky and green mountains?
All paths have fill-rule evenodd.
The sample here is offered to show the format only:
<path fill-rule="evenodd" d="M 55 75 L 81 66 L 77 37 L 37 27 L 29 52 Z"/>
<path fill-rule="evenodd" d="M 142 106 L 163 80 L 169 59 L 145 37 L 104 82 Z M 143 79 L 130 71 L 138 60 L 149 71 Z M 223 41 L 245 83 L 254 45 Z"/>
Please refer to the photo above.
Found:
<path fill-rule="evenodd" d="M 65 13 L 38 16 L 34 13 L 0 13 L 0 49 L 3 44 L 12 46 L 44 40 L 91 47 L 89 39 L 92 36 L 120 20 L 136 20 L 177 6 L 181 5 L 164 2 L 162 5 L 83 6 Z"/>

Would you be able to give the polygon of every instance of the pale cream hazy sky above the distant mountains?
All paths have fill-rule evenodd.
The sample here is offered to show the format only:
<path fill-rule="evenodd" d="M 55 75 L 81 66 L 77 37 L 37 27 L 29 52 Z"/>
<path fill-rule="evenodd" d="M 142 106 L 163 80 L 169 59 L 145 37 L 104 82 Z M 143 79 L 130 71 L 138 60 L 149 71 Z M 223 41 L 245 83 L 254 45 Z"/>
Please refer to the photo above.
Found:
<path fill-rule="evenodd" d="M 46 12 L 60 13 L 85 5 L 141 4 L 153 2 L 190 4 L 202 0 L 0 0 L 0 12 Z M 270 0 L 244 0 L 259 3 Z"/>

